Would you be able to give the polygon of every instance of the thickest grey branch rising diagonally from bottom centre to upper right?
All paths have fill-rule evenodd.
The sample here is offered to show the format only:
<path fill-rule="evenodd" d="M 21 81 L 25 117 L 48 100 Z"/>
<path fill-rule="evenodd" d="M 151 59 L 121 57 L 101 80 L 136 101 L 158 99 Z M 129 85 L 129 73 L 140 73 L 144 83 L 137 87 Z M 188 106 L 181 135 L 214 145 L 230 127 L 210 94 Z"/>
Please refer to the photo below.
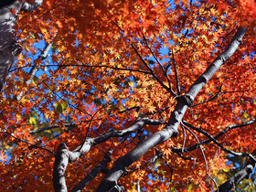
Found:
<path fill-rule="evenodd" d="M 137 161 L 150 149 L 155 147 L 155 145 L 161 144 L 167 139 L 177 136 L 178 125 L 181 122 L 185 112 L 187 111 L 187 104 L 193 103 L 197 93 L 204 87 L 208 80 L 211 79 L 211 77 L 221 67 L 221 65 L 227 61 L 238 49 L 246 30 L 247 28 L 242 27 L 238 29 L 237 33 L 230 42 L 229 47 L 208 66 L 208 69 L 206 69 L 206 71 L 195 81 L 195 83 L 187 91 L 186 95 L 181 96 L 180 99 L 177 100 L 175 111 L 171 113 L 170 119 L 168 123 L 166 123 L 165 127 L 161 131 L 158 131 L 147 137 L 142 143 L 137 144 L 132 151 L 126 155 L 123 155 L 115 162 L 115 164 L 112 166 L 112 169 L 101 181 L 100 186 L 97 188 L 98 192 L 108 191 L 111 189 L 113 183 L 117 182 L 117 180 L 123 175 L 125 169 L 129 165 L 132 165 L 133 162 Z M 136 48 L 134 48 L 134 50 L 137 52 Z M 142 58 L 140 57 L 140 59 Z M 144 59 L 142 59 L 142 61 L 144 61 Z M 187 99 L 190 101 L 190 103 L 185 102 Z"/>

